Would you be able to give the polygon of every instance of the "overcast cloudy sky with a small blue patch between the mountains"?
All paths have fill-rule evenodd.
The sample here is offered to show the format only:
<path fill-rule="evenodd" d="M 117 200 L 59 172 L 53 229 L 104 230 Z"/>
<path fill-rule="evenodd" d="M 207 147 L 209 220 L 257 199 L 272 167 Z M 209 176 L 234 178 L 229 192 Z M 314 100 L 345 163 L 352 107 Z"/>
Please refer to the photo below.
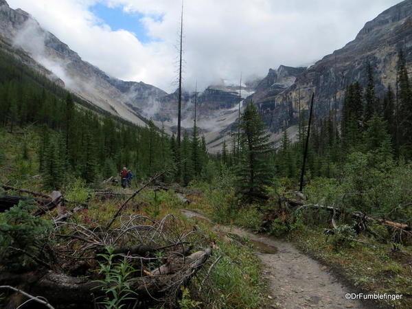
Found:
<path fill-rule="evenodd" d="M 180 0 L 7 0 L 111 76 L 176 88 Z M 184 84 L 310 65 L 400 0 L 186 0 Z"/>

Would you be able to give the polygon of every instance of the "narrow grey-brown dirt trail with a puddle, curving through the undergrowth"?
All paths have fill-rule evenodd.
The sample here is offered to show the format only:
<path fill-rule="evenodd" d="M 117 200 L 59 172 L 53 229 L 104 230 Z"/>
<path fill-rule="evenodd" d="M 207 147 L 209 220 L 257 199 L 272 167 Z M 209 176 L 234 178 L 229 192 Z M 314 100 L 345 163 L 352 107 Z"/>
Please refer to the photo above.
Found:
<path fill-rule="evenodd" d="M 182 212 L 190 218 L 209 220 L 196 211 L 183 209 Z M 367 308 L 361 301 L 345 299 L 345 294 L 352 291 L 327 266 L 304 255 L 290 242 L 255 235 L 238 227 L 214 228 L 249 238 L 255 244 L 270 284 L 268 298 L 273 299 L 273 308 Z"/>

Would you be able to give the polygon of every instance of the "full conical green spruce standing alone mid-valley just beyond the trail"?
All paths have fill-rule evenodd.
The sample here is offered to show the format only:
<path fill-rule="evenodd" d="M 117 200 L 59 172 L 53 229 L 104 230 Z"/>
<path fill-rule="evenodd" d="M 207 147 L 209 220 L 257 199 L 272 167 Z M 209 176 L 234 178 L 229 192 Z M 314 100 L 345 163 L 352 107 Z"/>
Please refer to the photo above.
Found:
<path fill-rule="evenodd" d="M 253 102 L 248 102 L 240 119 L 240 164 L 236 169 L 237 192 L 251 203 L 266 194 L 271 168 L 266 162 L 271 150 L 269 135 Z"/>

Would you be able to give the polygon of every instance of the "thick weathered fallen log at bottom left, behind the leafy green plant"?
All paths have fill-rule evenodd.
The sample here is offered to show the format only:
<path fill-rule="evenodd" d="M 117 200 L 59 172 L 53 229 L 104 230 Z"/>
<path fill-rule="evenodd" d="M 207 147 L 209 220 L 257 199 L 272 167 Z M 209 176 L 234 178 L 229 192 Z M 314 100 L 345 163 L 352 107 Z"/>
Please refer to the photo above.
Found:
<path fill-rule="evenodd" d="M 153 271 L 146 277 L 137 277 L 130 284 L 130 290 L 137 293 L 137 299 L 152 301 L 153 297 L 175 295 L 179 286 L 185 284 L 205 264 L 211 255 L 211 249 L 197 251 L 185 259 L 172 259 L 168 266 L 162 265 L 162 271 Z M 44 275 L 32 273 L 15 275 L 1 274 L 0 285 L 21 284 L 27 282 L 27 277 L 39 277 L 35 280 L 30 293 L 45 297 L 53 305 L 78 304 L 82 308 L 90 308 L 94 297 L 104 295 L 100 282 L 85 277 L 71 277 L 69 275 L 47 271 Z M 34 282 L 31 280 L 31 282 Z"/>

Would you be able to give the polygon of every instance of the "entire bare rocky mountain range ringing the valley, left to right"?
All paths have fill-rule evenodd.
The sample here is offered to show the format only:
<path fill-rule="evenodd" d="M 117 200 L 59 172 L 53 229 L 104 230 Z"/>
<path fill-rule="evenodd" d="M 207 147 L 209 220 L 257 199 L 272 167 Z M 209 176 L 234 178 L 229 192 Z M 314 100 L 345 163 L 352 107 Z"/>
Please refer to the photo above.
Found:
<path fill-rule="evenodd" d="M 0 0 L 0 48 L 114 115 L 137 124 L 150 117 L 159 126 L 163 122 L 166 129 L 176 126 L 177 92 L 168 94 L 144 82 L 108 76 L 43 30 L 30 14 L 12 10 L 4 0 Z M 236 85 L 214 85 L 201 91 L 197 98 L 198 127 L 205 133 L 209 149 L 220 149 L 223 140 L 231 139 L 229 133 L 237 130 L 239 106 L 242 108 L 244 99 L 251 99 L 276 141 L 285 128 L 293 133 L 299 109 L 308 108 L 312 91 L 316 94 L 315 117 L 327 115 L 332 108 L 339 111 L 347 85 L 366 83 L 367 62 L 374 68 L 376 92 L 381 95 L 396 82 L 399 49 L 404 50 L 411 67 L 412 0 L 385 10 L 367 22 L 354 41 L 311 67 L 281 65 L 269 69 L 262 80 L 242 84 L 241 98 Z M 194 93 L 183 92 L 182 116 L 183 128 L 192 128 Z"/>

